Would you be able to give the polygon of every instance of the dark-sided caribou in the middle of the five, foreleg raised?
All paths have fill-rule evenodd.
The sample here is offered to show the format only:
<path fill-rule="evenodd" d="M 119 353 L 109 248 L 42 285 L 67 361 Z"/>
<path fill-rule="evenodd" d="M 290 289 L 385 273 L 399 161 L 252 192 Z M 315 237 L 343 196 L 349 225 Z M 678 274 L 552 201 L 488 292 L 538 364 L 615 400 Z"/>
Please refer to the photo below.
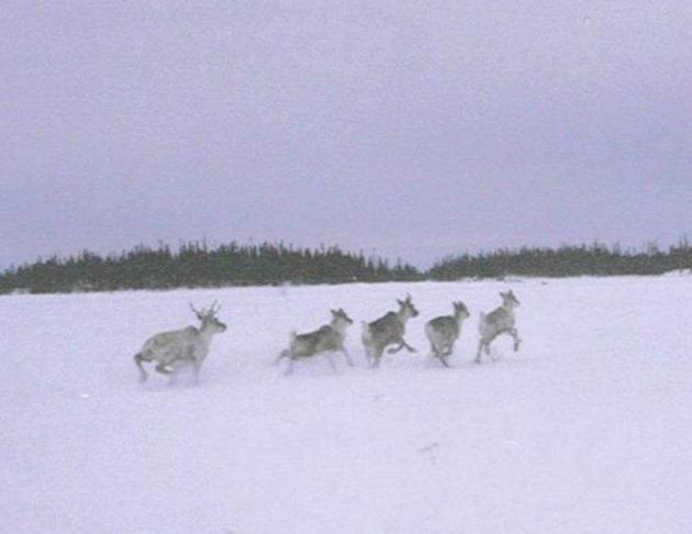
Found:
<path fill-rule="evenodd" d="M 398 312 L 390 311 L 371 323 L 362 322 L 360 338 L 365 345 L 368 363 L 371 367 L 379 367 L 384 348 L 394 343 L 398 346 L 387 351 L 388 354 L 398 353 L 402 348 L 410 353 L 416 352 L 415 348 L 405 342 L 403 336 L 406 333 L 406 321 L 417 316 L 418 310 L 413 305 L 410 294 L 406 294 L 406 300 L 397 299 L 397 302 L 399 303 Z"/>

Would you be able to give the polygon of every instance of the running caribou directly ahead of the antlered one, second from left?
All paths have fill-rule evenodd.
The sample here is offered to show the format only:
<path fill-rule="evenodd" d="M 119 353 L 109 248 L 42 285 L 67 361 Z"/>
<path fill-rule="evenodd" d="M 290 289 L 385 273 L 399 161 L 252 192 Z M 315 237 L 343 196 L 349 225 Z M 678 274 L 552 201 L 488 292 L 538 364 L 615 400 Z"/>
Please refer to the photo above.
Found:
<path fill-rule="evenodd" d="M 332 369 L 336 370 L 332 356 L 328 354 L 332 351 L 341 352 L 346 357 L 348 365 L 354 365 L 348 351 L 344 347 L 346 329 L 354 324 L 354 321 L 346 314 L 343 308 L 331 311 L 332 322 L 330 324 L 325 324 L 319 330 L 308 334 L 291 332 L 289 348 L 282 351 L 276 360 L 278 364 L 282 358 L 289 359 L 286 375 L 293 372 L 293 363 L 297 359 L 310 358 L 311 356 L 316 356 L 322 353 L 326 353 Z"/>

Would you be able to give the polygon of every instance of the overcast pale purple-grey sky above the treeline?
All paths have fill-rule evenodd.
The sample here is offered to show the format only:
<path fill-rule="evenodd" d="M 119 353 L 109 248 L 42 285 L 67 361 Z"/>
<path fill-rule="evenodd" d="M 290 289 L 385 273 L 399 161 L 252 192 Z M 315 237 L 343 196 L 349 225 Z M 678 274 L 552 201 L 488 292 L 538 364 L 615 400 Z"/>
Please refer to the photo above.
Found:
<path fill-rule="evenodd" d="M 3 1 L 0 267 L 692 237 L 692 2 Z"/>

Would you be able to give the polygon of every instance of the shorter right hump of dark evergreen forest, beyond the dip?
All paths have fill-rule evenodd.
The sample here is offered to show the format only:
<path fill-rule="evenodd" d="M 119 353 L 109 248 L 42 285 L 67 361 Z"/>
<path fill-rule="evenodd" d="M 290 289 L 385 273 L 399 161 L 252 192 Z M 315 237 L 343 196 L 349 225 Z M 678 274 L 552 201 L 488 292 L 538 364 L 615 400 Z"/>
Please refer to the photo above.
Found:
<path fill-rule="evenodd" d="M 505 276 L 569 277 L 662 275 L 692 269 L 692 247 L 687 238 L 667 251 L 649 244 L 644 251 L 623 251 L 601 243 L 559 248 L 523 247 L 464 254 L 438 262 L 427 271 L 433 280 L 501 278 Z"/>

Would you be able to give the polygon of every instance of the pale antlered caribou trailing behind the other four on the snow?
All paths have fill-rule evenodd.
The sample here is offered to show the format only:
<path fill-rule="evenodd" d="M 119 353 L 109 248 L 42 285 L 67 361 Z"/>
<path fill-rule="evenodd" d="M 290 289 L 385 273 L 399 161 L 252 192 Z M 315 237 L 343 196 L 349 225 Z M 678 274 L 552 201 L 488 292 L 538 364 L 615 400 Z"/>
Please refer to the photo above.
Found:
<path fill-rule="evenodd" d="M 141 381 L 145 381 L 148 377 L 142 365 L 143 361 L 155 361 L 155 369 L 171 378 L 178 369 L 192 366 L 197 379 L 200 367 L 209 354 L 212 336 L 224 332 L 226 325 L 216 318 L 221 309 L 221 307 L 216 308 L 216 301 L 209 310 L 196 310 L 192 303 L 190 308 L 201 322 L 199 329 L 188 326 L 156 334 L 146 341 L 142 351 L 135 354 L 134 361 L 139 369 Z"/>

